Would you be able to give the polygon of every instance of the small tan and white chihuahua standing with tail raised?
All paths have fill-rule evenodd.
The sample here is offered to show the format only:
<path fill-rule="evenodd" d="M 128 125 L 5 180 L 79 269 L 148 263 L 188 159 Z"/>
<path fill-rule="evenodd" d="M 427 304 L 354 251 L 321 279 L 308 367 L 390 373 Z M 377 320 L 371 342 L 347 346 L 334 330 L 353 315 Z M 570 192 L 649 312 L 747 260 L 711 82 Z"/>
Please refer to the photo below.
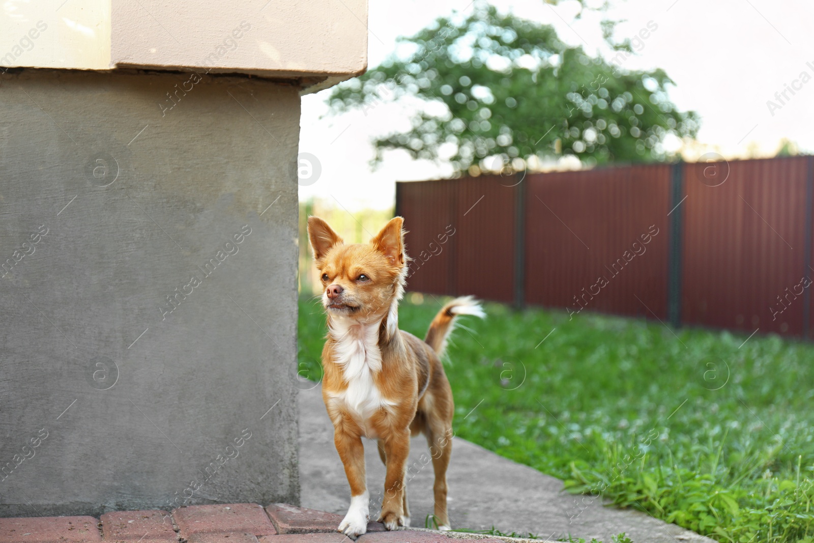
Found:
<path fill-rule="evenodd" d="M 338 531 L 353 539 L 366 532 L 370 516 L 362 436 L 378 440 L 387 468 L 379 522 L 388 530 L 409 526 L 409 440 L 418 433 L 427 436 L 435 470 L 435 522 L 449 530 L 453 395 L 440 357 L 457 315 L 484 317 L 480 304 L 467 296 L 444 305 L 423 341 L 399 330 L 409 261 L 403 222 L 396 217 L 370 243 L 348 244 L 322 219 L 308 221 L 328 323 L 322 399 L 351 487 L 351 505 Z"/>

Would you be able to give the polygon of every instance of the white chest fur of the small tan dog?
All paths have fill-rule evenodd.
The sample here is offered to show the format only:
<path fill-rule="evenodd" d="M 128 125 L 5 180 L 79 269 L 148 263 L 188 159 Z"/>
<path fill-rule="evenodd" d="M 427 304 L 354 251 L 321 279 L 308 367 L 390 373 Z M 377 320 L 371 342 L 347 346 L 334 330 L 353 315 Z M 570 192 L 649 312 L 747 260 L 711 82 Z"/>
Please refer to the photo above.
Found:
<path fill-rule="evenodd" d="M 370 417 L 379 409 L 395 405 L 382 396 L 373 379 L 373 375 L 382 370 L 380 324 L 359 324 L 351 319 L 338 318 L 331 322 L 329 331 L 335 340 L 334 361 L 342 368 L 348 383 L 344 392 L 332 397 L 348 410 L 369 438 L 377 437 L 370 425 Z"/>

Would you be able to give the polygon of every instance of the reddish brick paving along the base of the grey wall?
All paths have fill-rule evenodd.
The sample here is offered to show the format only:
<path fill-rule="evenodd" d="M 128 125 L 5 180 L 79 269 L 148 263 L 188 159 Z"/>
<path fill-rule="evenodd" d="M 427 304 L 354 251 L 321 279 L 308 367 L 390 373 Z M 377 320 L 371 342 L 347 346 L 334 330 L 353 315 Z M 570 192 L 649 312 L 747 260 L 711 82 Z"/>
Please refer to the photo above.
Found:
<path fill-rule="evenodd" d="M 114 511 L 100 519 L 24 517 L 0 519 L 0 543 L 342 543 L 342 515 L 276 503 L 187 506 L 164 510 Z M 358 543 L 454 543 L 443 532 L 387 532 L 371 522 Z M 466 537 L 466 536 L 464 536 Z M 479 538 L 481 543 L 497 539 Z"/>

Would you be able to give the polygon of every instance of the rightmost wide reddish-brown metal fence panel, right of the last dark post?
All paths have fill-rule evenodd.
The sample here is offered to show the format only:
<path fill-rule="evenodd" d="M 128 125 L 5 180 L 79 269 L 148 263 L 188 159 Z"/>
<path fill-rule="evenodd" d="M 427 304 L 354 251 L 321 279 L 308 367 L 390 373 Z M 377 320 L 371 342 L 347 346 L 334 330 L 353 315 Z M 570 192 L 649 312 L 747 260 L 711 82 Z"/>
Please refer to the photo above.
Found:
<path fill-rule="evenodd" d="M 807 165 L 685 164 L 682 322 L 803 334 Z"/>

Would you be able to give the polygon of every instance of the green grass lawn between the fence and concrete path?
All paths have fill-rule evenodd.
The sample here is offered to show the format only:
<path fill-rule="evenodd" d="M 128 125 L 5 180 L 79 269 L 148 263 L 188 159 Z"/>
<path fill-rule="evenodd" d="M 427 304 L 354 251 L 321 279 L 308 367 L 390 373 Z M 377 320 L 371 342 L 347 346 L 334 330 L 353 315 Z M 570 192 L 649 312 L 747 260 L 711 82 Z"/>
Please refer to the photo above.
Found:
<path fill-rule="evenodd" d="M 423 337 L 439 307 L 405 301 L 400 327 Z M 486 309 L 449 346 L 457 436 L 718 541 L 814 541 L 814 345 Z M 321 313 L 301 301 L 309 375 Z"/>

